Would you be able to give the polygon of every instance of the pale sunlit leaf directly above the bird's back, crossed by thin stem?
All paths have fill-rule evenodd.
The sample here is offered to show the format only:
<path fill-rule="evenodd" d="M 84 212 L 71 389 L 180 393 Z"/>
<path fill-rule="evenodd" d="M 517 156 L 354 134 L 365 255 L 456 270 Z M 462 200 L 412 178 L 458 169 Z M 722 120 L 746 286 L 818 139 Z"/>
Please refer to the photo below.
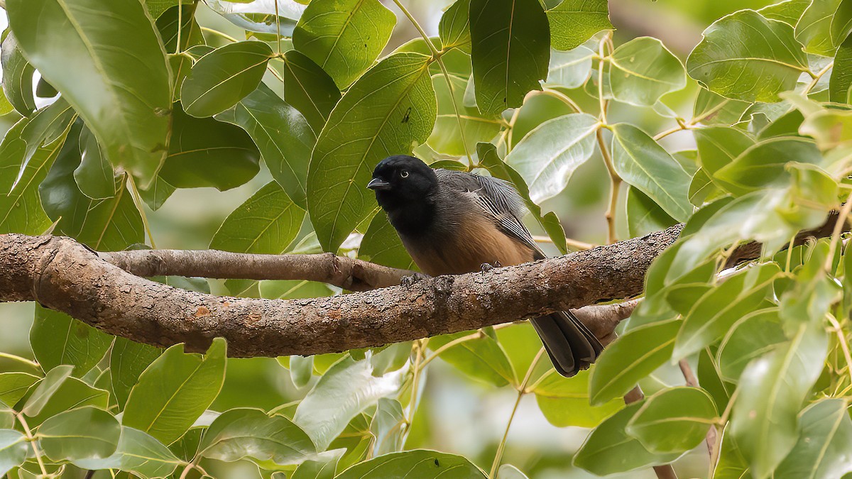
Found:
<path fill-rule="evenodd" d="M 450 76 L 452 93 L 446 82 L 444 75 L 432 76 L 435 95 L 438 97 L 438 116 L 426 144 L 438 153 L 454 156 L 473 154 L 477 143 L 491 141 L 497 136 L 502 124 L 500 117 L 498 114 L 481 114 L 476 107 L 464 106 L 467 78 Z M 453 102 L 456 107 L 452 106 Z M 459 122 L 462 125 L 461 130 Z"/>

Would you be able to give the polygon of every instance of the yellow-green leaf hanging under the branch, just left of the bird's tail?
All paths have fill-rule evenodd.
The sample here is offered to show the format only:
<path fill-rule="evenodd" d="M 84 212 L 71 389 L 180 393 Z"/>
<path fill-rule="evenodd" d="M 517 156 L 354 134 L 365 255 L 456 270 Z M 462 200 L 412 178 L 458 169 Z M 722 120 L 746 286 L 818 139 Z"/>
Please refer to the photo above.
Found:
<path fill-rule="evenodd" d="M 455 339 L 474 333 L 468 331 L 435 336 L 429 339 L 429 349 L 434 351 Z M 498 387 L 518 382 L 506 352 L 497 339 L 486 331 L 482 332 L 480 338 L 468 339 L 444 350 L 439 357 L 469 377 Z"/>

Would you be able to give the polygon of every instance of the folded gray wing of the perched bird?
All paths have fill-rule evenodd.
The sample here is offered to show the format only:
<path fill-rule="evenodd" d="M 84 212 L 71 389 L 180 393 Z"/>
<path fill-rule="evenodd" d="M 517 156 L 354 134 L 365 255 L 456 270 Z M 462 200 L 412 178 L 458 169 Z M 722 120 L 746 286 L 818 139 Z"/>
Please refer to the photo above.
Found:
<path fill-rule="evenodd" d="M 524 200 L 509 182 L 490 176 L 453 170 L 435 170 L 441 183 L 471 199 L 497 223 L 498 228 L 523 245 L 536 251 L 536 259 L 544 257 L 533 235 L 521 222 L 527 213 Z"/>

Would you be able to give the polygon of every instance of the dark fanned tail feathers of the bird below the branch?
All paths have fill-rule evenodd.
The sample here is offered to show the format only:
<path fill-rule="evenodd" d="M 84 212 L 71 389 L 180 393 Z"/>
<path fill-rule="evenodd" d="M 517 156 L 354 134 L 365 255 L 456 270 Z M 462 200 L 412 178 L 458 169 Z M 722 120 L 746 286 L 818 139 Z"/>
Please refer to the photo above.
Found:
<path fill-rule="evenodd" d="M 588 369 L 603 350 L 595 335 L 570 311 L 541 316 L 531 321 L 556 372 L 566 378 Z"/>

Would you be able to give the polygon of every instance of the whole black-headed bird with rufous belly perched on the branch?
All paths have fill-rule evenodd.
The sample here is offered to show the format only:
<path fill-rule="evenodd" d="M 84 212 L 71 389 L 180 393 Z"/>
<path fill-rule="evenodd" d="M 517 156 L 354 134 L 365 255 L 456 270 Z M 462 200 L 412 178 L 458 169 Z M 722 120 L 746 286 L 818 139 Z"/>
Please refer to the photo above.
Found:
<path fill-rule="evenodd" d="M 394 155 L 377 164 L 366 187 L 376 193 L 417 268 L 430 276 L 546 257 L 521 222 L 526 207 L 509 182 Z M 531 322 L 556 372 L 567 378 L 589 368 L 603 350 L 570 311 Z"/>

